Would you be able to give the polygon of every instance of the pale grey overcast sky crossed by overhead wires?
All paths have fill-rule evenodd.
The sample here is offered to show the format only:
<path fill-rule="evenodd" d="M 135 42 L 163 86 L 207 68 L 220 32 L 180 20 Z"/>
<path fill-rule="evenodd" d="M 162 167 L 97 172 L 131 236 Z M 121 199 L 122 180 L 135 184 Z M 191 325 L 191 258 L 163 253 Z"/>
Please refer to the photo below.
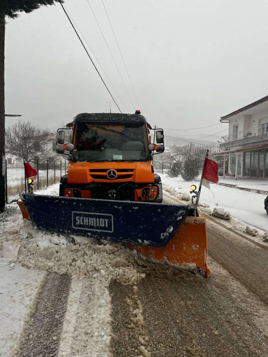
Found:
<path fill-rule="evenodd" d="M 135 108 L 88 2 L 65 0 L 66 9 L 132 113 L 139 108 L 102 2 L 90 0 L 90 4 Z M 184 129 L 217 124 L 220 116 L 268 94 L 267 1 L 104 0 L 104 4 L 140 109 L 151 125 Z M 59 4 L 8 19 L 5 66 L 7 114 L 21 114 L 23 120 L 56 129 L 78 113 L 109 111 L 109 94 Z M 7 118 L 6 125 L 16 120 Z M 227 127 L 194 130 L 197 135 L 192 137 Z"/>

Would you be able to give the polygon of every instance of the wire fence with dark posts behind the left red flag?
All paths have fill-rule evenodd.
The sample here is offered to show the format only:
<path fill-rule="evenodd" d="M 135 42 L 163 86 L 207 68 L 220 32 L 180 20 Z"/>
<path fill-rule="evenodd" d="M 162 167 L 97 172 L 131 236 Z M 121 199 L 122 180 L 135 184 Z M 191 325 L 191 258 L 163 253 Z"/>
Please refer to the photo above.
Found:
<path fill-rule="evenodd" d="M 43 190 L 60 181 L 60 177 L 68 170 L 67 160 L 47 160 L 41 165 L 39 161 L 31 166 L 37 170 L 37 178 L 34 181 L 33 190 Z M 6 202 L 10 203 L 19 198 L 19 193 L 28 191 L 24 165 L 20 162 L 6 164 Z"/>

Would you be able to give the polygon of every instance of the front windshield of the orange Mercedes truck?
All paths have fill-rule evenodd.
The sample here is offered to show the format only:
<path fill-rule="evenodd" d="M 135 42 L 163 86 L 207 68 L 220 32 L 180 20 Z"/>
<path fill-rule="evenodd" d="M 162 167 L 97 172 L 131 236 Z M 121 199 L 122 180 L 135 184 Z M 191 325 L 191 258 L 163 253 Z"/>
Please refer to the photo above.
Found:
<path fill-rule="evenodd" d="M 75 161 L 148 161 L 148 136 L 144 123 L 76 124 Z"/>

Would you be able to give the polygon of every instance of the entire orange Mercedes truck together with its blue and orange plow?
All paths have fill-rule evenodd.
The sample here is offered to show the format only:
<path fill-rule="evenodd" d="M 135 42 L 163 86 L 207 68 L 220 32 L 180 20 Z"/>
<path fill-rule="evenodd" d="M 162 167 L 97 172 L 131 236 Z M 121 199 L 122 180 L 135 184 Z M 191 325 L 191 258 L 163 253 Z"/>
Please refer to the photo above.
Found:
<path fill-rule="evenodd" d="M 162 203 L 152 161 L 164 152 L 163 130 L 140 111 L 82 113 L 66 127 L 70 135 L 64 128 L 56 136 L 56 151 L 70 161 L 59 196 L 21 193 L 23 218 L 39 230 L 121 242 L 145 260 L 208 277 L 205 218 L 194 203 Z"/>

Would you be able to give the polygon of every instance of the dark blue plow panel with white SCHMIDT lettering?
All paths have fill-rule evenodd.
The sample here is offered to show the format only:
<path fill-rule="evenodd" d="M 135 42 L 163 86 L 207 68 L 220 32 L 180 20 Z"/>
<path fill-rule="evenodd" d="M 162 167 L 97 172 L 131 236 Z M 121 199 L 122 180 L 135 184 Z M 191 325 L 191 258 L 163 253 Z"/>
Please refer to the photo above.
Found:
<path fill-rule="evenodd" d="M 39 230 L 152 247 L 166 246 L 188 213 L 187 205 L 20 196 Z"/>

